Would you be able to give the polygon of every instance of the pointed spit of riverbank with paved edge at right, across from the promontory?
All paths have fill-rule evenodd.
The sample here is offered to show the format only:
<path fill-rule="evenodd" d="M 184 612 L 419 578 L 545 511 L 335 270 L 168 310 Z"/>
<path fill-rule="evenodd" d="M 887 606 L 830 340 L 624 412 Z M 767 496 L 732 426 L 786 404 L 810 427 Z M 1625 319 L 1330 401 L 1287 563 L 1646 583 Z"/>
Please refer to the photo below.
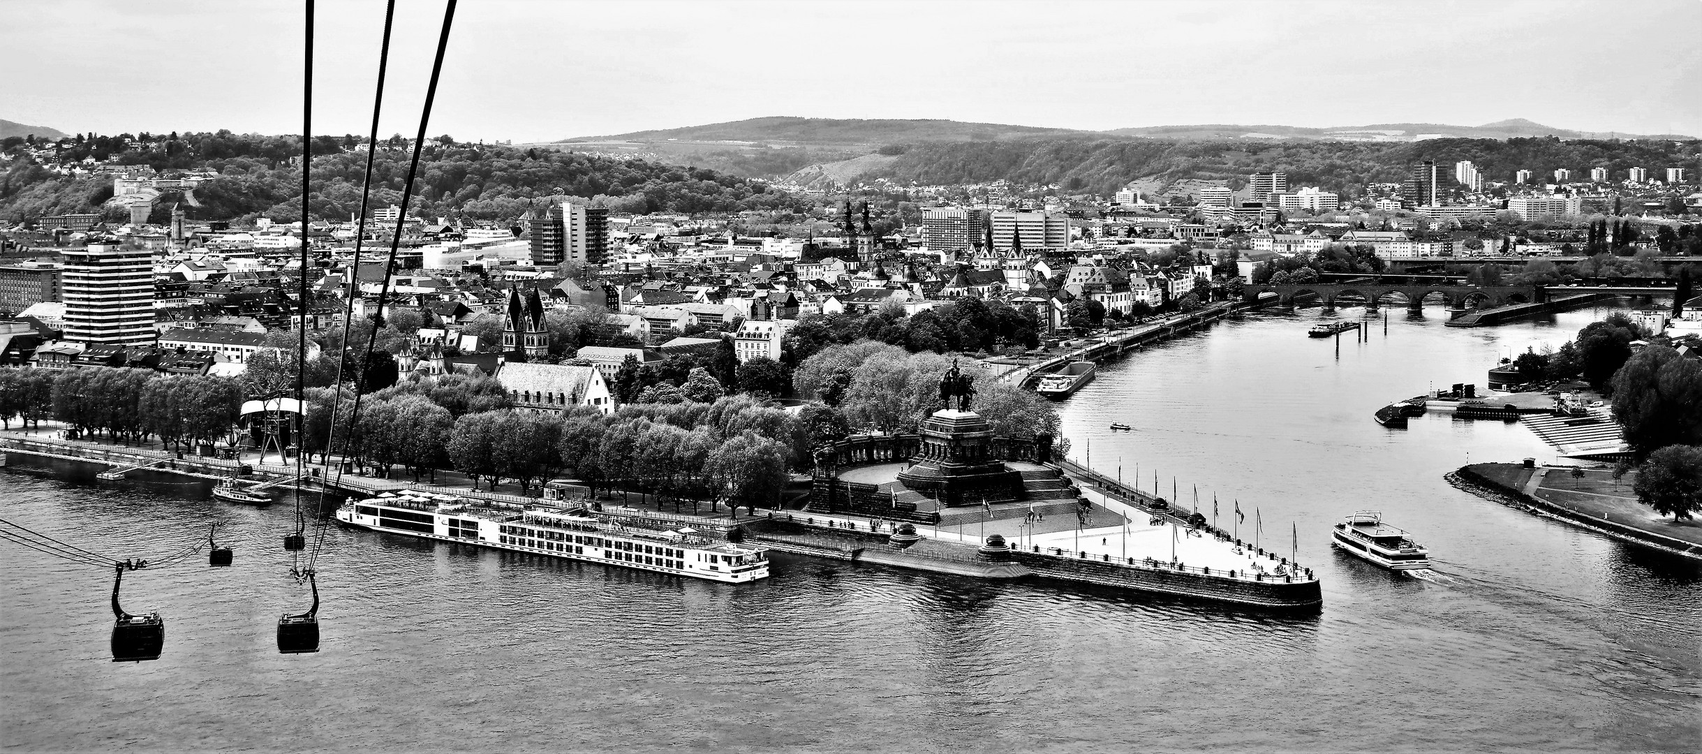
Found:
<path fill-rule="evenodd" d="M 1636 471 L 1615 480 L 1612 470 L 1573 466 L 1525 468 L 1515 463 L 1474 463 L 1447 475 L 1479 497 L 1564 521 L 1620 541 L 1702 560 L 1702 523 L 1673 521 L 1637 502 Z"/>

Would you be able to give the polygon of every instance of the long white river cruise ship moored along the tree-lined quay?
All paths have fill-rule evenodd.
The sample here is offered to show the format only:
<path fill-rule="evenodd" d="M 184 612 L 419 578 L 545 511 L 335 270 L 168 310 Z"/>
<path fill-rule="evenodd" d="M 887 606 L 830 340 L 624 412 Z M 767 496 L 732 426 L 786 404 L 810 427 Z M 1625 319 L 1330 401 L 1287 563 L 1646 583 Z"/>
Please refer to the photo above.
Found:
<path fill-rule="evenodd" d="M 587 563 L 735 584 L 768 577 L 764 548 L 710 540 L 691 528 L 652 529 L 609 521 L 584 509 L 521 507 L 402 490 L 349 500 L 335 516 L 363 529 Z"/>

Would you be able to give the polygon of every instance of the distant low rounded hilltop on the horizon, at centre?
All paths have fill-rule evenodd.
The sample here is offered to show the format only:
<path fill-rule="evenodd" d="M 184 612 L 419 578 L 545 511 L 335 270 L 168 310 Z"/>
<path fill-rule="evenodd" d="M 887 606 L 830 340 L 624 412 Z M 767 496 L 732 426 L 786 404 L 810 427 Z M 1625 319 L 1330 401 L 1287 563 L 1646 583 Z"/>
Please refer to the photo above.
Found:
<path fill-rule="evenodd" d="M 997 141 L 1021 136 L 1089 133 L 1065 128 L 1006 126 L 936 119 L 752 117 L 706 126 L 580 136 L 563 141 L 720 141 L 812 146 L 894 145 L 917 141 Z"/>

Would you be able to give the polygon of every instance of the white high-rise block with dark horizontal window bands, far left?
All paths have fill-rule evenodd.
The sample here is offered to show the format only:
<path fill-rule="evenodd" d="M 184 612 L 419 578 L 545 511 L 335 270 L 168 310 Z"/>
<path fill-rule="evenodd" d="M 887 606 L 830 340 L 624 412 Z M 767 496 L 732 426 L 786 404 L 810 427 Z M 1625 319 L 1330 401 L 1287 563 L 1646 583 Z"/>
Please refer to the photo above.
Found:
<path fill-rule="evenodd" d="M 153 257 L 117 243 L 65 250 L 65 339 L 153 342 Z"/>

